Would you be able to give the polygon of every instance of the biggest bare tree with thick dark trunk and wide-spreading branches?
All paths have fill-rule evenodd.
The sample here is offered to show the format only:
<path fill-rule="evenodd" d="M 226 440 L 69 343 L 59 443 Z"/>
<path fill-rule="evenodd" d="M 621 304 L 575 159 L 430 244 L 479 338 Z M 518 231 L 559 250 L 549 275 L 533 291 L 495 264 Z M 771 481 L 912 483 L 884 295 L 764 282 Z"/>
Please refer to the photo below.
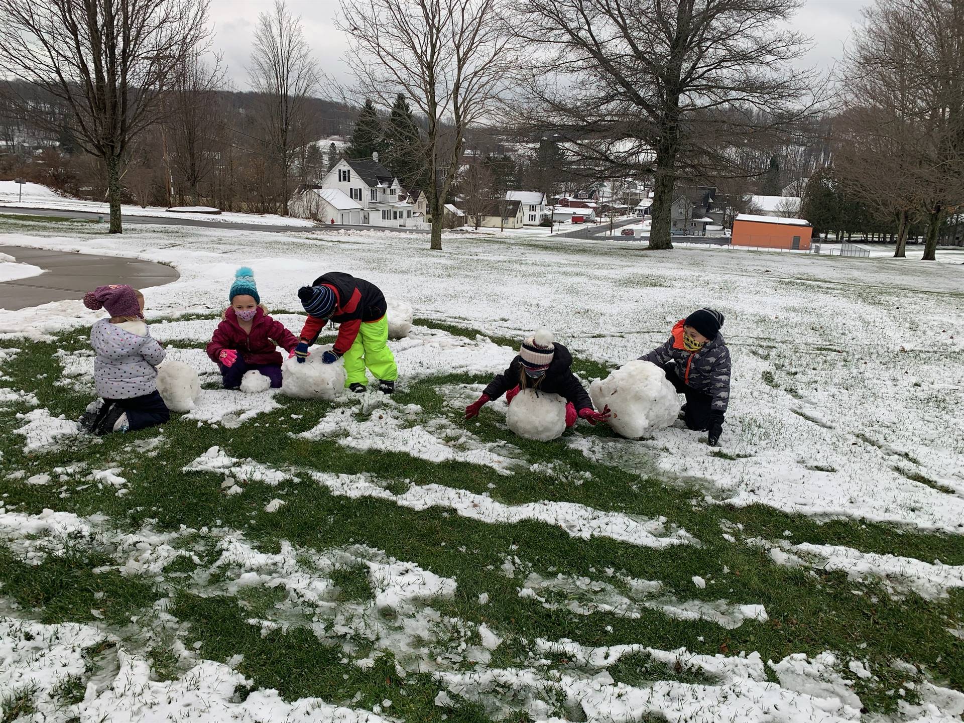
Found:
<path fill-rule="evenodd" d="M 520 37 L 544 54 L 514 114 L 555 130 L 600 174 L 653 170 L 651 249 L 672 248 L 678 177 L 745 173 L 737 148 L 772 142 L 815 111 L 816 76 L 790 67 L 805 39 L 785 29 L 801 0 L 517 4 Z"/>

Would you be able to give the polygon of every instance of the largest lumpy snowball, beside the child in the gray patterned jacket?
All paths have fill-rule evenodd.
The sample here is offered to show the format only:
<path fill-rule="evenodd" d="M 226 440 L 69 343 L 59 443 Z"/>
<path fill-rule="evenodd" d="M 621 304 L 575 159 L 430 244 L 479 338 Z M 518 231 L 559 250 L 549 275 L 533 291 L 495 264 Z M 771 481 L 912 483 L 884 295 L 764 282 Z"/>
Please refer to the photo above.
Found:
<path fill-rule="evenodd" d="M 633 360 L 603 380 L 589 385 L 596 409 L 609 407 L 609 426 L 635 440 L 655 429 L 665 429 L 680 415 L 680 395 L 653 362 Z"/>

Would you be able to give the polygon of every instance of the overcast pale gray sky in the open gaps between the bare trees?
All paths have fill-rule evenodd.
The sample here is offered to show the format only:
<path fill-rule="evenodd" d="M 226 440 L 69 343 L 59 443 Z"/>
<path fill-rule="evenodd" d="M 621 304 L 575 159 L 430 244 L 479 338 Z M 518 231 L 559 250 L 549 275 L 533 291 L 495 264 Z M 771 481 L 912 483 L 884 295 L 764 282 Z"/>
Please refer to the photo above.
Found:
<path fill-rule="evenodd" d="M 271 7 L 273 0 L 212 0 L 214 48 L 224 53 L 228 77 L 238 90 L 248 90 L 251 42 L 258 13 Z M 343 62 L 345 39 L 335 28 L 337 0 L 287 0 L 288 7 L 302 16 L 305 34 L 315 57 L 326 74 L 346 79 Z M 851 26 L 860 19 L 861 8 L 870 0 L 806 0 L 794 26 L 814 39 L 807 65 L 831 67 L 844 50 Z"/>

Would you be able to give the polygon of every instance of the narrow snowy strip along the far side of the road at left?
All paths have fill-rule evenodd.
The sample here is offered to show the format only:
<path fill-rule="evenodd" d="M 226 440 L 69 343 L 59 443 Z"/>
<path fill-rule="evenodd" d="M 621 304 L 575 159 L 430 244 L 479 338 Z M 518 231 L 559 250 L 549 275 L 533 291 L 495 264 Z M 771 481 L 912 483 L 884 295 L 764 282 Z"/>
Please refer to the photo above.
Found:
<path fill-rule="evenodd" d="M 110 205 L 106 201 L 84 201 L 62 196 L 40 183 L 24 183 L 21 193 L 20 186 L 11 180 L 0 180 L 0 205 L 13 205 L 21 208 L 49 208 L 66 211 L 91 211 L 102 213 L 104 217 L 110 215 Z M 308 228 L 317 226 L 308 219 L 296 219 L 290 216 L 278 216 L 271 213 L 234 213 L 225 211 L 218 215 L 209 213 L 192 213 L 189 206 L 186 210 L 169 212 L 161 206 L 121 205 L 120 211 L 127 216 L 153 216 L 158 218 L 191 219 L 194 221 L 221 221 L 235 224 L 262 224 L 267 226 L 290 226 Z M 0 208 L 0 211 L 3 209 Z"/>

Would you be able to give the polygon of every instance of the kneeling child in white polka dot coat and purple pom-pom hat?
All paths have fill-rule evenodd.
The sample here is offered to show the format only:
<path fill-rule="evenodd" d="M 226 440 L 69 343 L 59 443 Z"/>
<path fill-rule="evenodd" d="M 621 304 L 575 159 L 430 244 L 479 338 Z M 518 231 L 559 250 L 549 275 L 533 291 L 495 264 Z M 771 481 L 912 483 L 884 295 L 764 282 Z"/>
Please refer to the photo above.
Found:
<path fill-rule="evenodd" d="M 144 321 L 144 296 L 127 284 L 98 286 L 84 296 L 88 308 L 106 308 L 91 330 L 94 387 L 103 397 L 80 418 L 94 434 L 144 429 L 166 422 L 171 413 L 157 392 L 156 366 L 164 348 L 150 336 Z"/>

